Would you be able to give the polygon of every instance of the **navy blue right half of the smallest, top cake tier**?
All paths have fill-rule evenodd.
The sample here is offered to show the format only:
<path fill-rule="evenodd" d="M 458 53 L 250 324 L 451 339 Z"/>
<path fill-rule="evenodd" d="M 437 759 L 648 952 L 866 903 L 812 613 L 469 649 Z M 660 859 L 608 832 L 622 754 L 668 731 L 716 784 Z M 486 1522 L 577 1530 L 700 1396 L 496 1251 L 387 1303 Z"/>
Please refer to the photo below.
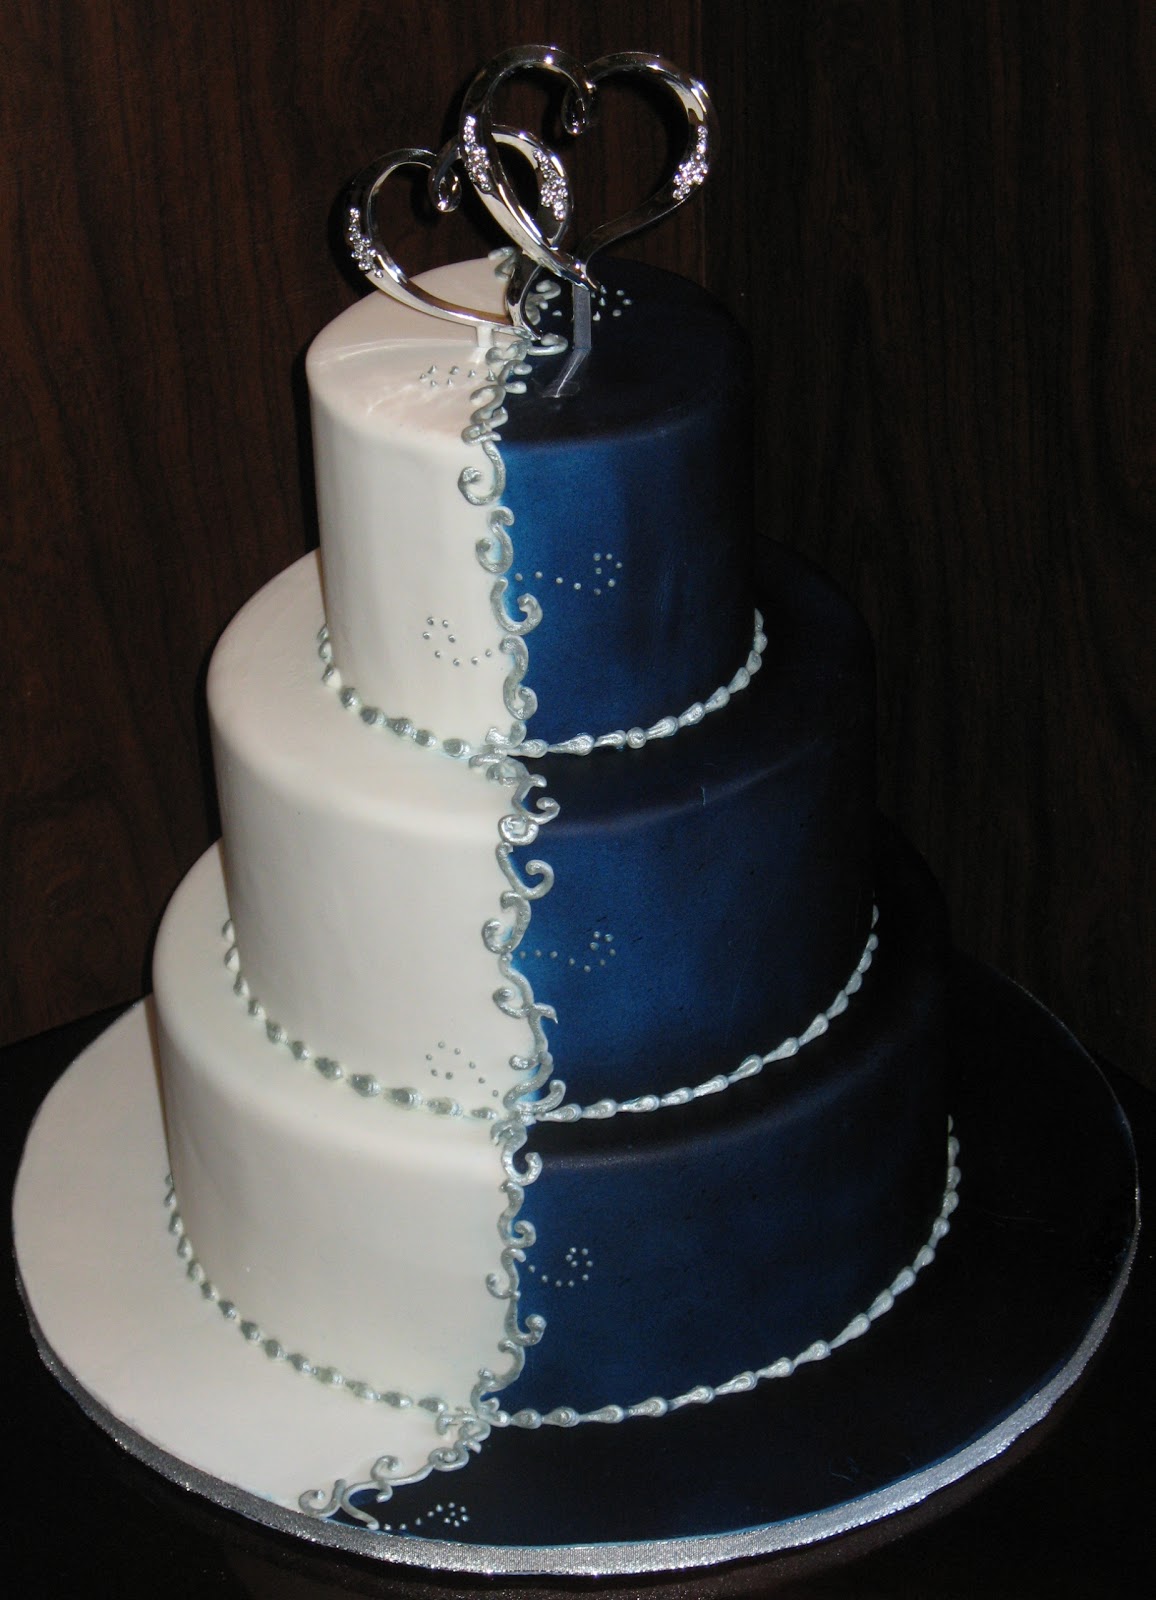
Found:
<path fill-rule="evenodd" d="M 748 354 L 703 290 L 618 262 L 580 392 L 536 358 L 501 429 L 512 594 L 538 696 L 530 736 L 648 726 L 706 701 L 751 650 Z"/>

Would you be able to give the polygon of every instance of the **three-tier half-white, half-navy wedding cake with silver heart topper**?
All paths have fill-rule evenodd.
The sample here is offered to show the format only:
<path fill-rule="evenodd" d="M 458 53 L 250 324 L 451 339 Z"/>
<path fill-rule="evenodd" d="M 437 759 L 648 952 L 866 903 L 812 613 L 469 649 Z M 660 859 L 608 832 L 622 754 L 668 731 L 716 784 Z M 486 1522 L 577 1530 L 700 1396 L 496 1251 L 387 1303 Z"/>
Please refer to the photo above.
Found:
<path fill-rule="evenodd" d="M 517 251 L 410 283 L 354 206 L 389 293 L 309 352 L 320 558 L 213 656 L 224 838 L 154 968 L 189 1314 L 373 1408 L 301 1485 L 362 1522 L 496 1429 L 837 1360 L 957 1181 L 941 906 L 876 821 L 863 624 L 781 549 L 756 590 L 745 341 L 668 274 L 591 286 L 471 96 Z"/>

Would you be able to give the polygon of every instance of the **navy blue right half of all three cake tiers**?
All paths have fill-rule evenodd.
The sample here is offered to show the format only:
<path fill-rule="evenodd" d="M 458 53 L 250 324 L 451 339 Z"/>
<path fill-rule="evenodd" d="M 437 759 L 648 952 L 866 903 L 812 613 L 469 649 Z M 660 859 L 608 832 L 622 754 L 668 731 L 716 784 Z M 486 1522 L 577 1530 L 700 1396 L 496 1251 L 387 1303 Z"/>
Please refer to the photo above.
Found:
<path fill-rule="evenodd" d="M 701 291 L 608 274 L 576 398 L 511 397 L 512 592 L 535 594 L 532 739 L 647 726 L 746 662 L 753 456 L 743 342 Z M 626 306 L 629 299 L 634 304 Z M 538 378 L 548 378 L 538 368 Z M 567 1099 L 693 1086 L 861 992 L 786 1066 L 674 1110 L 541 1125 L 519 1315 L 548 1318 L 511 1410 L 720 1384 L 834 1338 L 908 1267 L 946 1166 L 946 936 L 909 854 L 874 861 L 866 630 L 815 570 L 764 563 L 767 650 L 725 710 L 640 750 L 530 762 L 560 806 L 516 954 Z M 512 606 L 511 606 L 512 610 Z"/>

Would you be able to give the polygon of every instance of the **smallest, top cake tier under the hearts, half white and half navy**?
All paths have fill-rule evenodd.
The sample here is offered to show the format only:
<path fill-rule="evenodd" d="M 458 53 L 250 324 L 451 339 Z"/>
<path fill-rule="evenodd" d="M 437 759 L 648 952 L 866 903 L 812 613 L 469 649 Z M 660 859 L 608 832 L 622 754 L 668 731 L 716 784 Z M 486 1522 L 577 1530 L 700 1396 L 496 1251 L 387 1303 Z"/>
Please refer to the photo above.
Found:
<path fill-rule="evenodd" d="M 501 306 L 492 262 L 421 283 Z M 597 315 L 576 395 L 548 398 L 559 358 L 528 358 L 525 392 L 493 424 L 498 466 L 463 435 L 495 398 L 487 352 L 501 334 L 476 339 L 375 294 L 309 352 L 336 666 L 367 704 L 442 741 L 509 730 L 500 613 L 519 619 L 522 595 L 541 608 L 524 634 L 528 733 L 549 744 L 679 715 L 751 650 L 741 334 L 701 290 L 629 262 L 605 272 Z M 504 597 L 495 507 L 512 542 Z"/>

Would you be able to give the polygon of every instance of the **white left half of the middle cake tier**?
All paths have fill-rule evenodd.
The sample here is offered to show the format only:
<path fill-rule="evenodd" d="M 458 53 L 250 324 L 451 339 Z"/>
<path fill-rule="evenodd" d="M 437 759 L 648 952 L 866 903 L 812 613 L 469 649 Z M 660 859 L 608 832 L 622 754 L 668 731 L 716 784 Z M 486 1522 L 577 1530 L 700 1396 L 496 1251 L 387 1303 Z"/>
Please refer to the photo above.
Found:
<path fill-rule="evenodd" d="M 245 978 L 291 1040 L 351 1072 L 456 1094 L 456 1061 L 498 1107 L 527 1050 L 525 1022 L 493 1003 L 501 974 L 482 939 L 509 888 L 495 851 L 511 792 L 408 739 L 368 738 L 320 682 L 320 621 L 304 557 L 250 600 L 210 670 Z M 218 933 L 205 930 L 213 960 Z"/>

